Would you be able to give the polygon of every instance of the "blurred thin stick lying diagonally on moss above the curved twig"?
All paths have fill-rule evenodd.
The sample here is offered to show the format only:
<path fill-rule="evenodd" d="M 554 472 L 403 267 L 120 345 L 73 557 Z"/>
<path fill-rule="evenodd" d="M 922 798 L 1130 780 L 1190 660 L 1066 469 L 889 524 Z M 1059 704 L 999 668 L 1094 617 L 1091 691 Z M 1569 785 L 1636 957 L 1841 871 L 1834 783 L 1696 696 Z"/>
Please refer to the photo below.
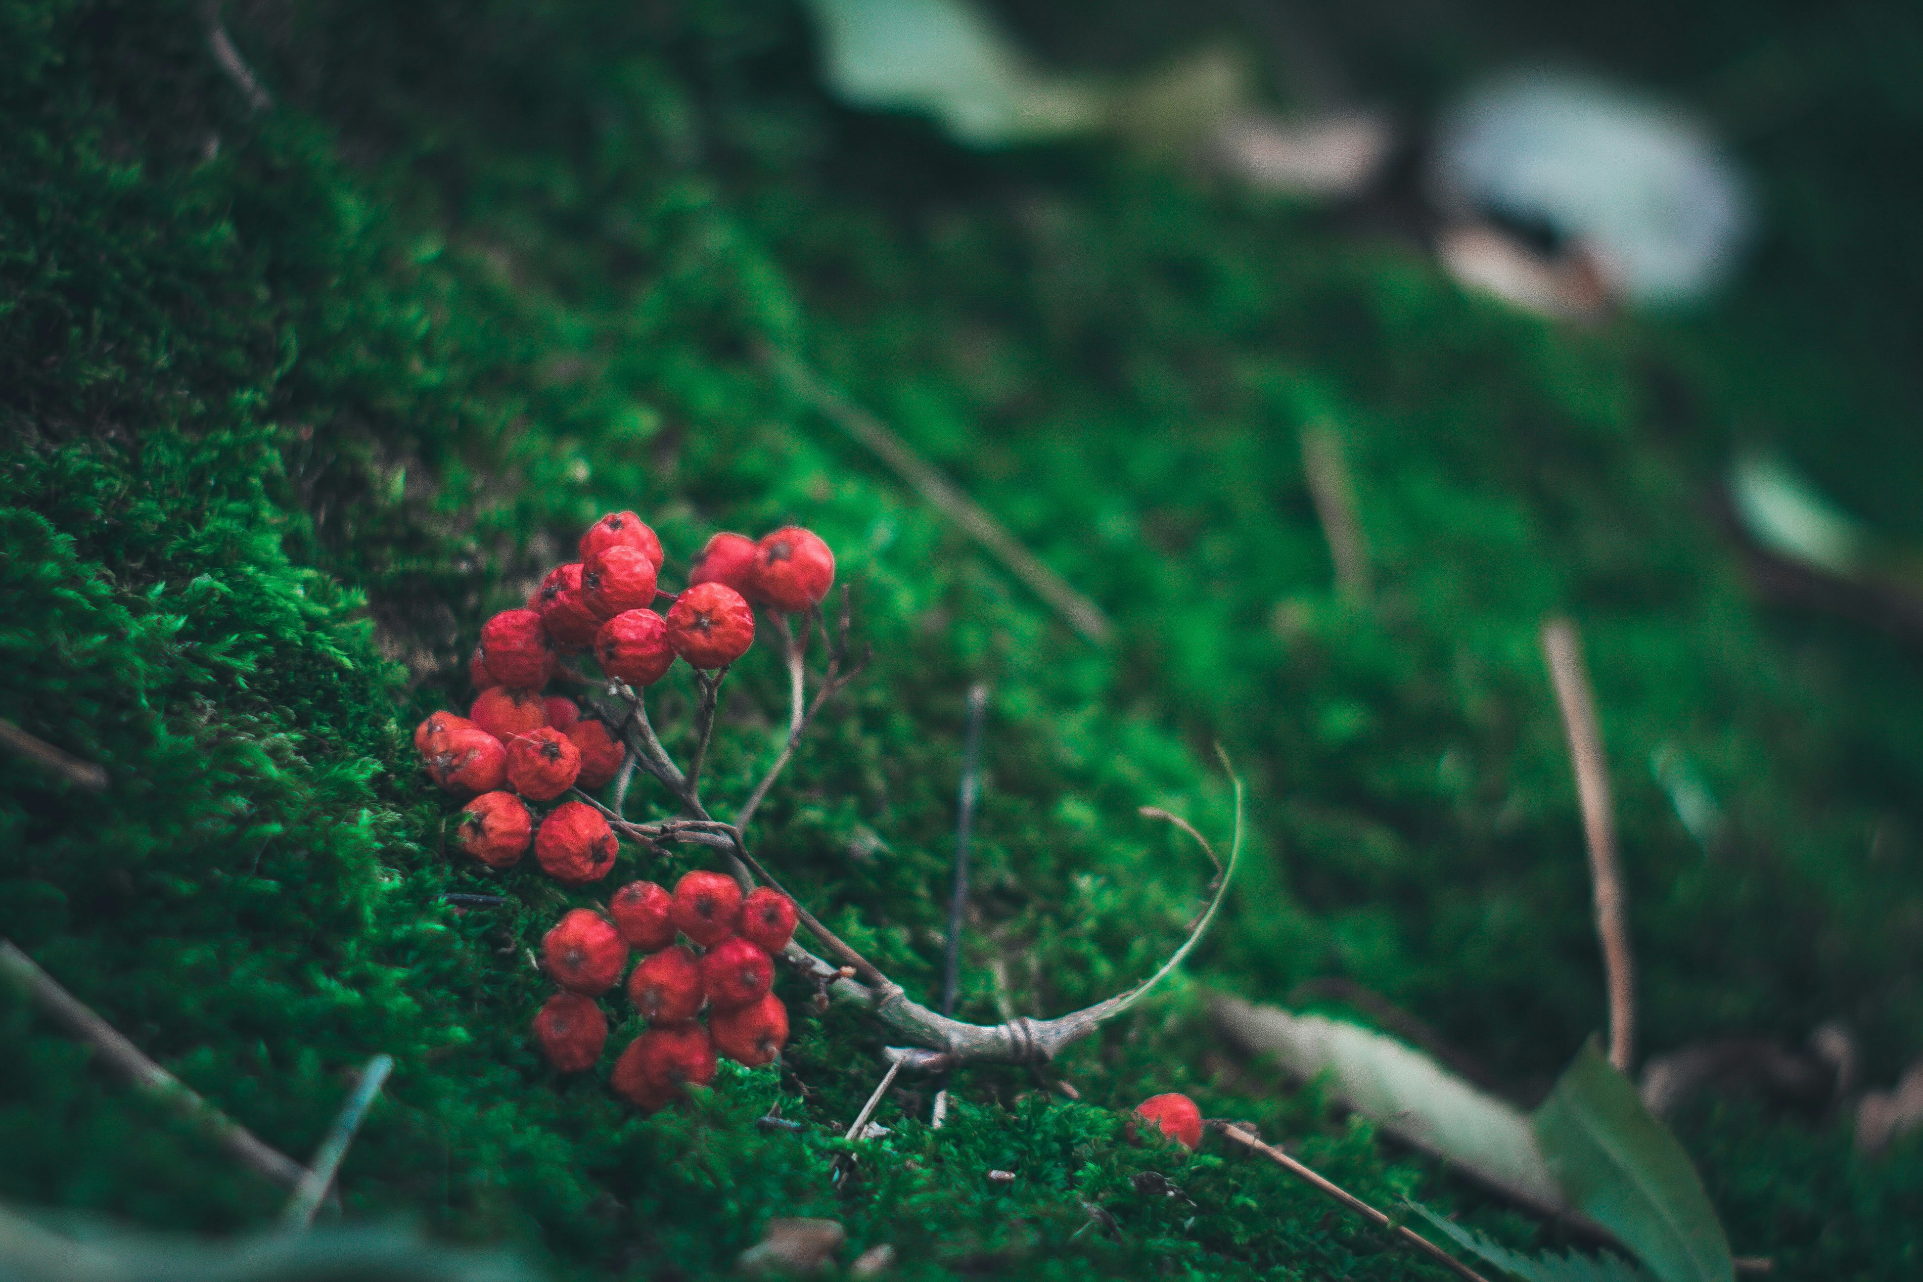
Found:
<path fill-rule="evenodd" d="M 986 548 L 1021 582 L 1029 584 L 1035 596 L 1056 609 L 1069 627 L 1098 646 L 1106 646 L 1115 634 L 1115 627 L 1102 613 L 1102 607 L 1067 584 L 1061 575 L 1042 565 L 1042 561 L 1023 548 L 1008 529 L 996 521 L 986 507 L 963 494 L 948 477 L 940 475 L 917 456 L 906 440 L 896 436 L 881 419 L 862 409 L 846 396 L 821 381 L 808 365 L 788 352 L 775 348 L 762 350 L 765 363 L 790 392 L 813 406 L 844 432 L 867 446 L 894 475 L 906 481 L 923 500 L 944 517 L 960 525 L 975 542 Z"/>

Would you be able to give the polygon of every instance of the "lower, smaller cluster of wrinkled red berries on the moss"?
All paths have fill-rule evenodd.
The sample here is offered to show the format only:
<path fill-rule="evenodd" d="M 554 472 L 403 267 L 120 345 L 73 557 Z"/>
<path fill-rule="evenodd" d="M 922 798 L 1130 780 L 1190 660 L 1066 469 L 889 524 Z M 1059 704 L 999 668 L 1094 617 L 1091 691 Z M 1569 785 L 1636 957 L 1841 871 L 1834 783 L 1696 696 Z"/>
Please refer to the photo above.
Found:
<path fill-rule="evenodd" d="M 794 919 L 785 894 L 760 886 L 742 900 L 721 873 L 688 873 L 673 894 L 629 882 L 610 900 L 608 917 L 573 909 L 540 944 L 562 986 L 535 1017 L 542 1053 L 562 1072 L 600 1061 L 608 1017 L 594 998 L 621 982 L 635 949 L 646 955 L 627 974 L 627 998 L 648 1030 L 613 1065 L 617 1094 L 654 1113 L 683 1086 L 712 1082 L 721 1055 L 748 1067 L 773 1063 L 788 1040 L 788 1009 L 771 992 L 775 953 L 794 938 Z"/>

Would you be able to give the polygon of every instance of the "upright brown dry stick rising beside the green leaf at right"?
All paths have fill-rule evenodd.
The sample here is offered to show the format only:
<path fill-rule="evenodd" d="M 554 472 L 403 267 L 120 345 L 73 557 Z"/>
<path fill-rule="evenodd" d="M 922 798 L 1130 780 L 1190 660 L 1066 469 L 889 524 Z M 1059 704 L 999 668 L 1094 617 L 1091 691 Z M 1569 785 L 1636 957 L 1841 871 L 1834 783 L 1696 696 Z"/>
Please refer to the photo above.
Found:
<path fill-rule="evenodd" d="M 1602 967 L 1610 982 L 1610 1063 L 1629 1072 L 1636 1046 L 1635 971 L 1629 953 L 1623 878 L 1615 861 L 1615 807 L 1610 800 L 1610 767 L 1596 728 L 1596 700 L 1583 667 L 1583 640 L 1567 619 L 1542 625 L 1542 653 L 1548 657 L 1556 702 L 1561 705 L 1569 757 L 1575 761 L 1575 792 L 1583 803 L 1583 836 L 1588 840 L 1588 873 L 1596 890 L 1596 934 L 1602 938 Z"/>

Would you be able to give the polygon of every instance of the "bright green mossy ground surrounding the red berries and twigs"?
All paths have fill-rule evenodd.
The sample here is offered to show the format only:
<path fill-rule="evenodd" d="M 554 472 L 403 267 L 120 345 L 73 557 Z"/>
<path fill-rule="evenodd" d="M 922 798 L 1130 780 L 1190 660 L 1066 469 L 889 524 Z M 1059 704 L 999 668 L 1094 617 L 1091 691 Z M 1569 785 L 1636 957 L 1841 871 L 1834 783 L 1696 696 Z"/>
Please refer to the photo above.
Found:
<path fill-rule="evenodd" d="M 1188 1090 L 1356 1192 L 1527 1242 L 1313 1092 L 1229 1071 L 1196 986 L 1275 999 L 1346 974 L 1525 1094 L 1556 1072 L 1602 1023 L 1602 982 L 1535 642 L 1552 609 L 1585 625 L 1617 765 L 1646 1048 L 1844 1019 L 1885 1082 L 1923 1048 L 1915 667 L 1761 615 L 1698 505 L 1733 436 L 1775 434 L 1917 530 L 1917 446 L 1885 427 L 1917 406 L 1886 373 L 1890 327 L 1915 333 L 1913 265 L 1813 350 L 1794 323 L 1798 300 L 1860 298 L 1831 279 L 1871 254 L 1842 229 L 1913 263 L 1861 186 L 1779 202 L 1711 319 L 1569 331 L 1102 146 L 981 158 L 840 111 L 775 0 L 231 8 L 271 111 L 219 73 L 198 4 L 0 0 L 0 715 L 115 780 L 92 798 L 0 761 L 0 934 L 296 1155 L 346 1074 L 392 1053 L 350 1215 L 581 1278 L 721 1272 L 792 1213 L 840 1219 L 854 1249 L 892 1242 L 902 1276 L 1429 1272 L 1267 1167 L 1121 1140 L 1123 1107 Z M 1115 58 L 1188 29 L 1086 8 L 1019 21 L 1065 48 L 1102 29 Z M 1663 21 L 1673 81 L 1802 31 Z M 1913 21 L 1825 31 L 1879 71 L 1817 125 L 1860 148 L 1892 117 L 1913 129 L 1888 71 Z M 1361 44 L 1431 94 L 1469 62 Z M 1773 190 L 1835 173 L 1800 146 L 1817 125 L 1756 144 Z M 785 396 L 758 342 L 808 356 L 1008 519 L 1115 615 L 1113 652 Z M 1369 605 L 1329 586 L 1298 463 L 1311 419 L 1350 448 Z M 969 1072 L 937 1134 L 915 1121 L 929 1088 L 904 1084 L 837 1188 L 831 1136 L 879 1072 L 858 1015 L 800 1019 L 779 1082 L 725 1072 L 652 1121 L 540 1067 L 523 948 L 583 898 L 454 863 L 406 728 L 463 698 L 487 611 L 612 505 L 650 515 L 671 571 L 715 529 L 800 519 L 837 546 L 877 661 L 758 840 L 921 992 L 963 692 L 994 684 L 967 1015 L 1058 1013 L 1173 948 L 1206 869 L 1135 809 L 1225 832 L 1227 746 L 1252 784 L 1248 873 L 1190 978 L 1063 1057 L 1081 1105 Z M 760 652 L 725 709 L 723 803 L 779 707 Z M 669 690 L 671 736 L 687 713 Z M 1729 813 L 1717 851 L 1650 780 L 1661 746 Z M 506 909 L 438 903 L 502 888 Z M 19 998 L 0 1021 L 0 1194 L 150 1226 L 271 1215 L 275 1190 Z M 750 1124 L 777 1092 L 802 1136 Z M 1683 1136 L 1738 1253 L 1790 1278 L 1913 1276 L 1915 1144 L 1863 1163 L 1844 1119 L 1740 1099 Z M 1136 1192 L 1150 1169 L 1186 1201 Z"/>

